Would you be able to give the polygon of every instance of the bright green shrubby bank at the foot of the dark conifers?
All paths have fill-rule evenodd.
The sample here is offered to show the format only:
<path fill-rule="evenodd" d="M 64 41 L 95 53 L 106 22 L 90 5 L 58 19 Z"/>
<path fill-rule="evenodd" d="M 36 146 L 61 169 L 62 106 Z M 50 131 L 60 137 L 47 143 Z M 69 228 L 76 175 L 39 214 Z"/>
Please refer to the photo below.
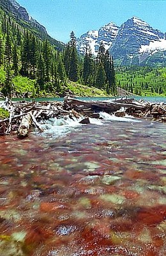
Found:
<path fill-rule="evenodd" d="M 3 96 L 3 84 L 5 81 L 4 68 L 0 68 L 0 93 Z M 105 90 L 85 86 L 80 83 L 66 81 L 66 84 L 61 86 L 57 92 L 57 88 L 49 90 L 50 84 L 45 85 L 44 90 L 38 90 L 35 79 L 29 79 L 23 76 L 16 76 L 12 79 L 12 94 L 13 97 L 63 97 L 66 94 L 79 97 L 105 97 L 108 95 Z M 51 88 L 52 89 L 52 88 Z"/>

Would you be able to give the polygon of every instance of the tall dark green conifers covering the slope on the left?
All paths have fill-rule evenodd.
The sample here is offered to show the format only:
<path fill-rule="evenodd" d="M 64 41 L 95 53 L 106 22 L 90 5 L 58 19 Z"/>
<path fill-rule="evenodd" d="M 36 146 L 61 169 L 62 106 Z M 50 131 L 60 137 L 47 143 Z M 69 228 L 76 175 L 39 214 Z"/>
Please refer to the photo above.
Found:
<path fill-rule="evenodd" d="M 35 81 L 36 94 L 61 95 L 68 80 L 116 93 L 114 62 L 103 44 L 96 58 L 88 47 L 85 56 L 79 56 L 73 31 L 70 42 L 57 51 L 47 39 L 42 41 L 36 36 L 33 29 L 24 28 L 0 9 L 0 68 L 5 72 L 0 90 L 4 95 L 11 96 L 13 77 L 19 76 Z"/>

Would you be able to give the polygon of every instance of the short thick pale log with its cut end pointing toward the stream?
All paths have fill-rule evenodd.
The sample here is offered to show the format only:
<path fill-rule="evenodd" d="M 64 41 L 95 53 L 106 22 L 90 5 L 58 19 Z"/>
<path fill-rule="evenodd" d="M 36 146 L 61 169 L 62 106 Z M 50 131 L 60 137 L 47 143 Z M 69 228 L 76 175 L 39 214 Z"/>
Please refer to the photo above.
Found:
<path fill-rule="evenodd" d="M 17 132 L 17 136 L 22 139 L 28 136 L 29 133 L 29 129 L 31 127 L 31 123 L 32 123 L 32 118 L 31 118 L 31 114 L 28 113 L 26 116 L 24 116 L 22 118 L 22 121 L 20 123 L 18 132 Z"/>

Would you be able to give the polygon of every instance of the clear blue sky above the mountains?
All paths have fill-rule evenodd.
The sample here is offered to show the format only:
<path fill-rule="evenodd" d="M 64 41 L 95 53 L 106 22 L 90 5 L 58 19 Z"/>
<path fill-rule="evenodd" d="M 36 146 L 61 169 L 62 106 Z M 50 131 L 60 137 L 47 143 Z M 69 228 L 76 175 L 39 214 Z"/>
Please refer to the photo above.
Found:
<path fill-rule="evenodd" d="M 43 24 L 50 36 L 68 42 L 113 21 L 120 26 L 132 16 L 166 32 L 166 0 L 17 0 Z"/>

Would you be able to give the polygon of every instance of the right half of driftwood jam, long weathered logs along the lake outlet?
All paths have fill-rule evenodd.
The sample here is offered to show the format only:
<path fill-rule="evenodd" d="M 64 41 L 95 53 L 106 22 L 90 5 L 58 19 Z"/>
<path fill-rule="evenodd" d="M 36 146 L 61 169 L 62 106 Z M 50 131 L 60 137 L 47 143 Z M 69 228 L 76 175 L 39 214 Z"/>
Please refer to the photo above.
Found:
<path fill-rule="evenodd" d="M 166 122 L 166 104 L 164 102 L 146 102 L 135 99 L 115 99 L 103 101 L 82 101 L 73 98 L 64 99 L 66 110 L 74 109 L 78 113 L 86 116 L 104 111 L 116 116 L 132 115 L 139 118 L 154 118 L 158 121 Z M 123 108 L 123 111 L 121 110 Z"/>

